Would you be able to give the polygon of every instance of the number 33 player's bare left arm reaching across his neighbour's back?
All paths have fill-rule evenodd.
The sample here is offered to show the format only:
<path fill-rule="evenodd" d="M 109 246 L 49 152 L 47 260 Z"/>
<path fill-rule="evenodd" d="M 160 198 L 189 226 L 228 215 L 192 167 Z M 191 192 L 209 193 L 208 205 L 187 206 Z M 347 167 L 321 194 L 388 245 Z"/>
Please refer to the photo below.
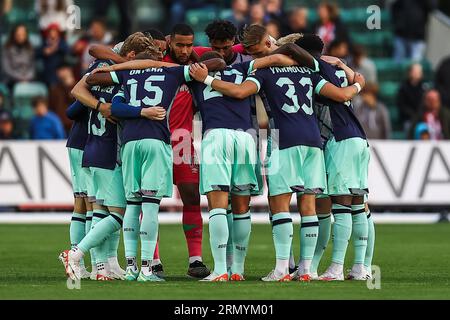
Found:
<path fill-rule="evenodd" d="M 191 65 L 190 74 L 195 80 L 205 82 L 208 77 L 208 68 L 203 64 L 195 63 Z M 240 85 L 236 85 L 231 82 L 213 79 L 211 87 L 224 95 L 236 99 L 245 99 L 258 92 L 258 87 L 252 81 L 245 81 Z"/>

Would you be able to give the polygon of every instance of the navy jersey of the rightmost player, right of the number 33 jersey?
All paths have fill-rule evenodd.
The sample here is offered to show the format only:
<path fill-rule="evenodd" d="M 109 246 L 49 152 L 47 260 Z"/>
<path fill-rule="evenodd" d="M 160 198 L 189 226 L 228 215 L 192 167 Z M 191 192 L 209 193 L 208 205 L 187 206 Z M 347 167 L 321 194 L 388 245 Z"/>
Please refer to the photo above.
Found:
<path fill-rule="evenodd" d="M 319 65 L 320 75 L 325 80 L 337 87 L 348 86 L 348 80 L 344 70 L 332 66 L 321 59 L 319 59 Z M 321 106 L 329 107 L 333 135 L 336 141 L 357 137 L 366 139 L 366 134 L 353 111 L 351 101 L 341 103 L 322 96 L 317 96 L 316 103 Z"/>

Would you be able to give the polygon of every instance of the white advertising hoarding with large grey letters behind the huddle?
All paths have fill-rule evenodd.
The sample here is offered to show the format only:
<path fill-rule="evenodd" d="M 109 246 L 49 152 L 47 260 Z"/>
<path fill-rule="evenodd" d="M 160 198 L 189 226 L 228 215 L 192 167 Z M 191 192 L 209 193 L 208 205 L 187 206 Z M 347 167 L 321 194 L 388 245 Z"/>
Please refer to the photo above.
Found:
<path fill-rule="evenodd" d="M 371 141 L 372 205 L 450 206 L 450 142 Z M 266 188 L 267 189 L 267 188 Z M 267 190 L 266 190 L 267 192 Z M 163 206 L 181 205 L 177 192 Z M 202 204 L 206 205 L 202 197 Z M 0 205 L 70 205 L 65 142 L 0 141 Z M 254 198 L 265 206 L 266 195 Z"/>

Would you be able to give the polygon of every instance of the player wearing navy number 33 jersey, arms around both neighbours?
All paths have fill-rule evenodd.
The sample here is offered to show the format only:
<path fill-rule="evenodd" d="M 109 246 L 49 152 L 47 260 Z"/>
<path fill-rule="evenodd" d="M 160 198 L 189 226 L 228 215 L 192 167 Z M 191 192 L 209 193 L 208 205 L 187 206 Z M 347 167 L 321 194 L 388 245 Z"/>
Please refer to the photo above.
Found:
<path fill-rule="evenodd" d="M 336 101 L 349 101 L 364 86 L 356 75 L 356 84 L 339 88 L 305 67 L 271 67 L 259 69 L 240 85 L 215 79 L 200 64 L 191 66 L 191 76 L 227 96 L 245 99 L 259 91 L 270 92 L 271 150 L 266 159 L 269 206 L 273 214 L 273 239 L 277 255 L 275 270 L 263 281 L 290 281 L 289 253 L 292 242 L 292 219 L 289 204 L 292 193 L 298 193 L 302 216 L 300 229 L 301 263 L 298 280 L 311 279 L 310 265 L 317 243 L 318 220 L 315 197 L 326 186 L 325 163 L 319 127 L 313 111 L 313 92 Z"/>

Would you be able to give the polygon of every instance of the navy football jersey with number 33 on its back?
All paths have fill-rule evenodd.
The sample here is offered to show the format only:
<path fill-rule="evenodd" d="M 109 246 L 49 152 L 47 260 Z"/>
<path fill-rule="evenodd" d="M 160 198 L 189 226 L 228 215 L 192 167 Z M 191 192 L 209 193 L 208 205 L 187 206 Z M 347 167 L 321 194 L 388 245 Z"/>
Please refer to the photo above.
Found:
<path fill-rule="evenodd" d="M 320 92 L 326 80 L 317 72 L 299 66 L 259 69 L 247 80 L 256 83 L 270 106 L 271 134 L 278 135 L 277 139 L 272 136 L 274 144 L 280 149 L 322 148 L 313 93 Z"/>

